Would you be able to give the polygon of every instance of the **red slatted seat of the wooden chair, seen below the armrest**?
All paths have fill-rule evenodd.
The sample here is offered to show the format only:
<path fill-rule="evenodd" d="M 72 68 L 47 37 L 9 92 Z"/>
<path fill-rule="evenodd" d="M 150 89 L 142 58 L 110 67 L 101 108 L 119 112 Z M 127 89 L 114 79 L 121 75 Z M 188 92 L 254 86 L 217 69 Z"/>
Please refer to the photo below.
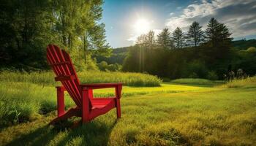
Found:
<path fill-rule="evenodd" d="M 90 99 L 91 101 L 91 109 L 102 109 L 106 107 L 108 104 L 111 104 L 112 102 L 115 102 L 115 98 L 94 98 Z"/>

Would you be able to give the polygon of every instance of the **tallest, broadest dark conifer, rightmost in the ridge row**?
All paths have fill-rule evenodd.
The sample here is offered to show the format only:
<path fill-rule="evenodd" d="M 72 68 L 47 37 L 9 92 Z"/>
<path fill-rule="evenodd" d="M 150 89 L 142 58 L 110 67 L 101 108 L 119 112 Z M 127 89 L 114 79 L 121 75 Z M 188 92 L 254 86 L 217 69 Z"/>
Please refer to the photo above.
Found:
<path fill-rule="evenodd" d="M 219 23 L 215 18 L 211 18 L 208 22 L 205 34 L 210 47 L 230 46 L 231 33 L 223 23 Z"/>

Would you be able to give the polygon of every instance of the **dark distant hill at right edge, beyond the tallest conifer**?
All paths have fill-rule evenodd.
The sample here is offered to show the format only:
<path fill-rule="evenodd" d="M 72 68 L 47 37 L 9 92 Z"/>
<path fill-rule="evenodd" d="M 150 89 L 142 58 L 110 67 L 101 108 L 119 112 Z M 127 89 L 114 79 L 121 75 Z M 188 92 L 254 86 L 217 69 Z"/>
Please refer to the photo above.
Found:
<path fill-rule="evenodd" d="M 232 47 L 236 47 L 239 50 L 246 50 L 249 47 L 256 47 L 256 39 L 241 39 L 238 41 L 232 41 Z"/>

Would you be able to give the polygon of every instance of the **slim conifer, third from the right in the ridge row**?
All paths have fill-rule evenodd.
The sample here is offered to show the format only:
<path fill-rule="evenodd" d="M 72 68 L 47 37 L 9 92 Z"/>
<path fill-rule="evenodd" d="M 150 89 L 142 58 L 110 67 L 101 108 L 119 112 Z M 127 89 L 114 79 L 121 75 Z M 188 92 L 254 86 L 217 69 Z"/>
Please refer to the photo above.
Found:
<path fill-rule="evenodd" d="M 176 48 L 182 48 L 184 46 L 185 36 L 184 36 L 184 32 L 181 30 L 181 28 L 177 27 L 173 31 L 172 39 L 173 39 L 173 43 Z"/>

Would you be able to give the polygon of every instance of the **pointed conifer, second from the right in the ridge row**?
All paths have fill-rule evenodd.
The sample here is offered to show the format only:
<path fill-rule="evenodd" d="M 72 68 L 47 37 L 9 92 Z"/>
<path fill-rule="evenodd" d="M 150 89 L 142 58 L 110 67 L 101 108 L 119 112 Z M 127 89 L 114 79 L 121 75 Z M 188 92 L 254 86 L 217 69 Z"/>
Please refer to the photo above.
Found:
<path fill-rule="evenodd" d="M 203 31 L 201 28 L 202 26 L 200 26 L 196 21 L 194 21 L 192 25 L 189 26 L 187 38 L 189 39 L 189 42 L 192 42 L 194 47 L 197 47 L 197 45 L 203 41 Z"/>

